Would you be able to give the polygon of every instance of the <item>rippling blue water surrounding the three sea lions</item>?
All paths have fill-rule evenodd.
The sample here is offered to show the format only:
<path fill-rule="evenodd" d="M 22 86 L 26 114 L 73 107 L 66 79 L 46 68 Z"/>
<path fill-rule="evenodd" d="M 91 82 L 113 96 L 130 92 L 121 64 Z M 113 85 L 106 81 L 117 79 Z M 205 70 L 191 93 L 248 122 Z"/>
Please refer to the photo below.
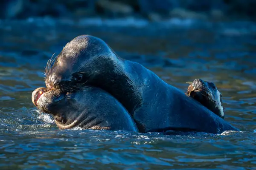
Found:
<path fill-rule="evenodd" d="M 0 29 L 1 170 L 256 168 L 254 23 L 30 18 L 1 21 Z M 47 60 L 80 34 L 102 38 L 183 91 L 195 78 L 214 82 L 226 120 L 241 132 L 58 130 L 50 116 L 38 114 L 31 94 L 44 86 Z"/>

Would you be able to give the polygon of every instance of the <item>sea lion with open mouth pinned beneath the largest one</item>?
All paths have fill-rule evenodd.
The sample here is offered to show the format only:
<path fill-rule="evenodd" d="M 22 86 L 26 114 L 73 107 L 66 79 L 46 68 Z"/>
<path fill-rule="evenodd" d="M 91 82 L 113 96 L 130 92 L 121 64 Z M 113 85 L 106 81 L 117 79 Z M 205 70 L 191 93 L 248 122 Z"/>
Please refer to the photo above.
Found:
<path fill-rule="evenodd" d="M 138 132 L 131 115 L 113 96 L 99 88 L 72 93 L 56 93 L 37 88 L 32 102 L 44 113 L 54 117 L 60 129 L 127 130 Z"/>

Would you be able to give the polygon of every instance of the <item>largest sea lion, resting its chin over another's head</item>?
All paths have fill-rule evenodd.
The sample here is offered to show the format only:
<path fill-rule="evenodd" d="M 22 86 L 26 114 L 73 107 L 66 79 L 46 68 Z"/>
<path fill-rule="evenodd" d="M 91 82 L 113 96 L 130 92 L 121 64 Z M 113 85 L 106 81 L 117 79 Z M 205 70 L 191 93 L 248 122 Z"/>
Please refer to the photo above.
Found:
<path fill-rule="evenodd" d="M 97 37 L 74 38 L 52 62 L 46 69 L 47 88 L 62 92 L 86 85 L 101 88 L 127 109 L 140 132 L 237 130 L 143 65 L 118 57 Z"/>

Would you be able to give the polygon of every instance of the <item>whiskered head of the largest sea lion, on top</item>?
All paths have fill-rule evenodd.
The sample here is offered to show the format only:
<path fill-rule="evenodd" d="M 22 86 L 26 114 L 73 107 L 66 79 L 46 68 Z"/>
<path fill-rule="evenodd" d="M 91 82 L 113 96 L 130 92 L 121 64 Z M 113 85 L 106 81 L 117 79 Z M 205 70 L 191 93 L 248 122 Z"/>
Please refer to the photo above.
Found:
<path fill-rule="evenodd" d="M 95 77 L 105 79 L 101 75 L 108 75 L 110 71 L 111 75 L 113 72 L 118 74 L 119 60 L 120 58 L 103 40 L 90 35 L 78 36 L 65 45 L 56 59 L 48 61 L 47 88 L 59 91 L 82 89 Z"/>

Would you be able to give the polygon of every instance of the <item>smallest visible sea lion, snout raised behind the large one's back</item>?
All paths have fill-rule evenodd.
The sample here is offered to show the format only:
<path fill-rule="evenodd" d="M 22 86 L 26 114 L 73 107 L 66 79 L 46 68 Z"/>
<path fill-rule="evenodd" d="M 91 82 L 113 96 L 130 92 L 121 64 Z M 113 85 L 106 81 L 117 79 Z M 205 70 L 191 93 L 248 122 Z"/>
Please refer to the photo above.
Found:
<path fill-rule="evenodd" d="M 194 98 L 210 111 L 225 119 L 222 95 L 214 83 L 195 79 L 190 82 L 186 95 Z"/>

